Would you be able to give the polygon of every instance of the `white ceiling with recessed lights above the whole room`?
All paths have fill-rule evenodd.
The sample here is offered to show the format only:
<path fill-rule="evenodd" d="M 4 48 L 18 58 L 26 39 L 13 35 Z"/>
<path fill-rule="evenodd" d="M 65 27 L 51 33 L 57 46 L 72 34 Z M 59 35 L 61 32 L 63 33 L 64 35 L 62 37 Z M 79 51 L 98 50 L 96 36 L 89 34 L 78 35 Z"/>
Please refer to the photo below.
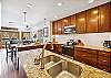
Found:
<path fill-rule="evenodd" d="M 38 25 L 44 18 L 49 21 L 58 20 L 108 1 L 110 0 L 94 0 L 89 4 L 89 0 L 2 0 L 2 25 L 21 25 L 24 11 L 27 11 L 27 22 Z M 58 2 L 62 5 L 58 7 Z M 28 8 L 27 3 L 31 3 L 32 8 Z"/>

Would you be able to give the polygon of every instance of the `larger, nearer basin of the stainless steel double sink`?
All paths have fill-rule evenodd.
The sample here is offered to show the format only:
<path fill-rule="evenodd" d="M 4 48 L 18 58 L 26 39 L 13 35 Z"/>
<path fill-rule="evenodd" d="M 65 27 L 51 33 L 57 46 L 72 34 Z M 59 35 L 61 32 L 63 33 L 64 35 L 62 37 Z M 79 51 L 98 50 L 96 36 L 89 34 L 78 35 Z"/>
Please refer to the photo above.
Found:
<path fill-rule="evenodd" d="M 64 60 L 52 66 L 47 71 L 52 78 L 79 78 L 82 67 Z"/>

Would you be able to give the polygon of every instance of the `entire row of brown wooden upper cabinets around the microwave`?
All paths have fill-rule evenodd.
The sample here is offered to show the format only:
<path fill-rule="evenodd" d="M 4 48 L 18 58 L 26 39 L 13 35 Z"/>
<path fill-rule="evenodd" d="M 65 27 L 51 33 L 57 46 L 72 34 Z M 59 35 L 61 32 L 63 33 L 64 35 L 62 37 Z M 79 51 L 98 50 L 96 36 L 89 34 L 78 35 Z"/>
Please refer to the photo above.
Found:
<path fill-rule="evenodd" d="M 111 32 L 111 2 L 53 21 L 52 33 L 64 34 L 64 26 L 75 26 L 78 34 Z"/>

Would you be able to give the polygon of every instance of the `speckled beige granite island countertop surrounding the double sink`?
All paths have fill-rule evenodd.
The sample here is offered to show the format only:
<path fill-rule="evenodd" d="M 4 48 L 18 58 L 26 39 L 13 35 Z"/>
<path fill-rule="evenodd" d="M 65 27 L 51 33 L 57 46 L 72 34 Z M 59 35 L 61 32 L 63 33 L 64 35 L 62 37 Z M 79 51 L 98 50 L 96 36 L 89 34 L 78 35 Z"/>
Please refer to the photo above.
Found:
<path fill-rule="evenodd" d="M 33 60 L 36 56 L 38 56 L 41 53 L 41 48 L 39 49 L 30 49 L 18 53 L 20 62 L 24 68 L 24 71 L 27 73 L 28 78 L 52 78 L 44 69 L 40 69 L 40 65 L 34 65 Z M 89 65 L 79 63 L 77 60 L 73 60 L 71 58 L 58 55 L 56 53 L 46 51 L 44 56 L 48 55 L 56 55 L 58 57 L 61 57 L 68 62 L 72 62 L 79 66 L 82 67 L 83 71 L 79 78 L 111 78 L 110 73 L 105 73 L 103 70 L 100 70 L 98 68 L 91 67 Z"/>

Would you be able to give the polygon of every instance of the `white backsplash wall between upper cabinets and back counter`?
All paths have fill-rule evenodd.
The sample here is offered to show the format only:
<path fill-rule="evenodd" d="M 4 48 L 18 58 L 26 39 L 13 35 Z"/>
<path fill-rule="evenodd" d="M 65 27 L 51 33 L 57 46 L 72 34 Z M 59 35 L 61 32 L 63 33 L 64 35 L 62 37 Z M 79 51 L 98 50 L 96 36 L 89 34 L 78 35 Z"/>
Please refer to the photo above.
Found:
<path fill-rule="evenodd" d="M 111 33 L 88 33 L 56 35 L 56 41 L 64 44 L 69 40 L 81 40 L 87 46 L 102 46 L 105 40 L 111 40 Z"/>

